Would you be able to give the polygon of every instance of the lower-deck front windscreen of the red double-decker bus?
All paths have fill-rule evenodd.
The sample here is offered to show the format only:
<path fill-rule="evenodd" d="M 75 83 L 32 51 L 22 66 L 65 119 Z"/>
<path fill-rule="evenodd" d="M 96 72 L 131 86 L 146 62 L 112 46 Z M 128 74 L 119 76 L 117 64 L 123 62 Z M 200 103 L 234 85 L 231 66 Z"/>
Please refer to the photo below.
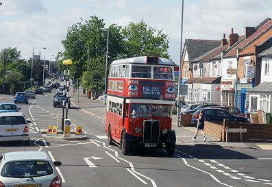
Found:
<path fill-rule="evenodd" d="M 147 118 L 151 116 L 170 117 L 171 106 L 132 103 L 130 105 L 131 118 Z"/>

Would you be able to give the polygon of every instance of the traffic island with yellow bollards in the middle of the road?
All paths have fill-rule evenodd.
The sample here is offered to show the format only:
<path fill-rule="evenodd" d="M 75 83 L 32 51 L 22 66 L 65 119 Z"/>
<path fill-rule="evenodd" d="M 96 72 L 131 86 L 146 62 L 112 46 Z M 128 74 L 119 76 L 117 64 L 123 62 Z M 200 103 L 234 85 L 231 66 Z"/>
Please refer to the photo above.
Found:
<path fill-rule="evenodd" d="M 71 134 L 64 135 L 64 132 L 61 129 L 56 129 L 52 134 L 48 134 L 49 129 L 40 129 L 40 133 L 45 138 L 54 138 L 56 140 L 86 140 L 88 137 L 85 134 L 77 135 L 76 130 L 71 130 Z M 53 132 L 53 130 L 52 130 Z"/>

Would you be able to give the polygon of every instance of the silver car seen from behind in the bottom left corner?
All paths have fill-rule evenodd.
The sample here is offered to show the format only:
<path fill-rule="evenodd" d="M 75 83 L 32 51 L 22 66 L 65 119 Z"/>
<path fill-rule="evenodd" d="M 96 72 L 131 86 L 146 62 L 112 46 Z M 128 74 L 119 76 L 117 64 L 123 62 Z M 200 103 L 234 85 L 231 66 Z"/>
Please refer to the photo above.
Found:
<path fill-rule="evenodd" d="M 62 178 L 42 151 L 17 151 L 0 156 L 0 186 L 5 187 L 61 187 Z"/>

